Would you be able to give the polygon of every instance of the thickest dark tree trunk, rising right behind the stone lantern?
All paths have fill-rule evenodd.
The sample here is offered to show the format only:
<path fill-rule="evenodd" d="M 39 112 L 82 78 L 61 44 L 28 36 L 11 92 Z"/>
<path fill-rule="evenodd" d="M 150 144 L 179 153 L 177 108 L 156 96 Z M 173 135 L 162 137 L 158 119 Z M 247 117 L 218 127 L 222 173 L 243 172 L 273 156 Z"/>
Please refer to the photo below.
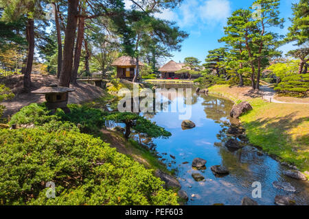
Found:
<path fill-rule="evenodd" d="M 65 44 L 60 72 L 59 86 L 69 87 L 73 65 L 73 49 L 76 24 L 78 21 L 79 0 L 68 0 L 67 27 L 65 28 Z"/>

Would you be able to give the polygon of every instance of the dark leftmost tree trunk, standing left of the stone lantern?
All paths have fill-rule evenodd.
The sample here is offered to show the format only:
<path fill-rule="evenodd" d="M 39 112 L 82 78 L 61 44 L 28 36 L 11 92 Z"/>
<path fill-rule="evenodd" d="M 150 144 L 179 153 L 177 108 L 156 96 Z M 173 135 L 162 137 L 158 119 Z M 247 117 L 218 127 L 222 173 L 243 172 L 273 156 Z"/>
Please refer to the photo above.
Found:
<path fill-rule="evenodd" d="M 23 88 L 25 91 L 30 92 L 31 88 L 31 72 L 34 57 L 34 20 L 29 19 L 27 21 L 27 42 L 28 42 L 28 53 L 27 53 L 27 66 L 23 75 Z"/>

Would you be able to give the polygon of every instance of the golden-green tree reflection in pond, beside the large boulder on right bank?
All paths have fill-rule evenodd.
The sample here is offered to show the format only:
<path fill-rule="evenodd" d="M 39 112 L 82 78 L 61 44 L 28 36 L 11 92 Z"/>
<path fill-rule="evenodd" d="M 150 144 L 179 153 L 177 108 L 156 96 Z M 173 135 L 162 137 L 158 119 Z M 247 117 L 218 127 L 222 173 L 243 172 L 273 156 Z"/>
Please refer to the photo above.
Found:
<path fill-rule="evenodd" d="M 222 123 L 222 118 L 229 117 L 233 103 L 226 99 L 220 99 L 214 96 L 203 96 L 204 102 L 202 103 L 206 118 L 215 120 Z"/>

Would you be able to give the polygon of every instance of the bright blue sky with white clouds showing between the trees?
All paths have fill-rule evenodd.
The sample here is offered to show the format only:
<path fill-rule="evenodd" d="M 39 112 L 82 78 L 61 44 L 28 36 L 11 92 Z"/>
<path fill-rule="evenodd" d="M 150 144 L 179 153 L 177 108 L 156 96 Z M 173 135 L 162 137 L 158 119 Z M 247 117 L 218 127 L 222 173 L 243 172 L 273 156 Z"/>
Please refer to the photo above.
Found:
<path fill-rule="evenodd" d="M 297 3 L 298 0 L 280 2 L 280 16 L 286 22 L 284 29 L 275 28 L 272 31 L 286 34 L 290 26 L 288 17 L 292 16 L 291 5 Z M 223 27 L 231 12 L 239 8 L 249 8 L 252 3 L 253 0 L 184 0 L 179 8 L 163 10 L 161 14 L 155 14 L 169 21 L 176 21 L 176 25 L 190 34 L 189 38 L 183 42 L 181 52 L 173 52 L 174 57 L 171 60 L 183 62 L 185 57 L 194 56 L 204 62 L 207 51 L 223 46 L 218 39 L 224 35 Z M 293 49 L 292 44 L 280 47 L 284 53 L 290 49 Z"/>

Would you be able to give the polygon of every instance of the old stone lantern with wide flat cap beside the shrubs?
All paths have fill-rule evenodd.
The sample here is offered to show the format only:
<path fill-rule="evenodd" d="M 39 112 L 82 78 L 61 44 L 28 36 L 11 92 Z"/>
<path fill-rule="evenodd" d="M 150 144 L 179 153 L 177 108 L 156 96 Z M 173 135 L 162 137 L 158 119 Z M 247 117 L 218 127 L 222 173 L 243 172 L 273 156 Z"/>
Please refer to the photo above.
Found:
<path fill-rule="evenodd" d="M 73 92 L 75 89 L 58 87 L 56 83 L 52 83 L 48 87 L 42 87 L 38 90 L 32 91 L 33 94 L 45 94 L 46 107 L 48 110 L 52 110 L 54 114 L 57 108 L 62 109 L 66 114 L 70 112 L 69 107 L 67 107 L 67 101 L 69 97 L 69 92 Z"/>

